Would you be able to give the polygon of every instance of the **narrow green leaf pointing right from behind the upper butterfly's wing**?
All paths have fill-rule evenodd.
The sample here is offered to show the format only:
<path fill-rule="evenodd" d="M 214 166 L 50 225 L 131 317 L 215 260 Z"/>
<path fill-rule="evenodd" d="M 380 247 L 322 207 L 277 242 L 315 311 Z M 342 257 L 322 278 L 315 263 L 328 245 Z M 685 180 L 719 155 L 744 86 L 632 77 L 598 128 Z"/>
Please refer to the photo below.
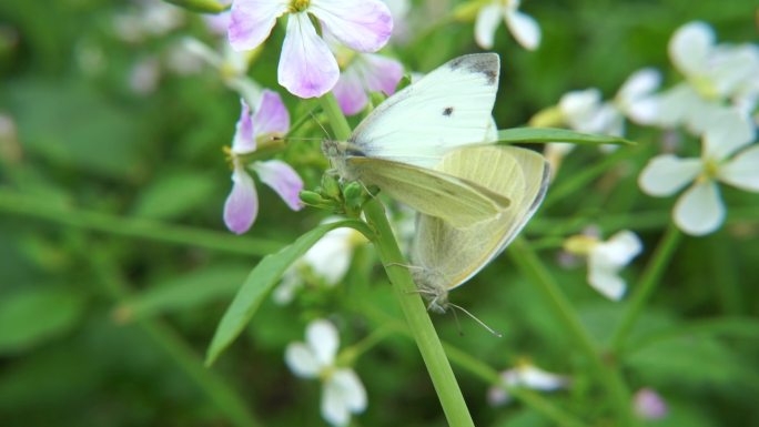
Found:
<path fill-rule="evenodd" d="M 546 143 L 546 142 L 569 142 L 583 145 L 636 145 L 635 142 L 618 136 L 593 135 L 580 133 L 567 129 L 553 128 L 514 128 L 498 131 L 500 143 L 514 144 L 519 142 Z"/>

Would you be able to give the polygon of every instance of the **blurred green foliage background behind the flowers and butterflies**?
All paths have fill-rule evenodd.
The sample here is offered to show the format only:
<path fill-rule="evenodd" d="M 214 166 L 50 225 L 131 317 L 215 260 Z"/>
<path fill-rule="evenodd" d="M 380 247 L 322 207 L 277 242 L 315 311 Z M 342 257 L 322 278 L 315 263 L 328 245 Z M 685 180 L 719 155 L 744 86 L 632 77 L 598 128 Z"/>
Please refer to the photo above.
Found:
<path fill-rule="evenodd" d="M 145 14 L 158 3 L 0 2 L 0 426 L 323 425 L 320 385 L 290 373 L 284 347 L 317 316 L 337 323 L 344 345 L 355 343 L 397 322 L 397 304 L 371 247 L 362 247 L 338 288 L 284 307 L 266 302 L 242 339 L 213 368 L 202 366 L 250 270 L 324 214 L 291 212 L 261 187 L 252 232 L 239 237 L 224 228 L 230 170 L 222 146 L 231 142 L 239 96 L 215 70 L 179 52 L 185 35 L 210 45 L 220 37 L 179 8 Z M 425 4 L 415 7 L 412 33 L 427 19 Z M 758 34 L 751 0 L 529 0 L 523 10 L 540 23 L 543 43 L 527 52 L 498 30 L 499 128 L 526 123 L 573 89 L 598 87 L 613 96 L 642 67 L 676 82 L 667 40 L 688 21 L 709 22 L 720 41 Z M 281 39 L 276 29 L 251 75 L 285 94 L 275 84 Z M 472 23 L 448 23 L 393 50 L 411 70 L 428 71 L 478 48 Z M 292 114 L 305 111 L 285 98 Z M 645 196 L 636 185 L 668 135 L 634 128 L 629 136 L 640 145 L 591 185 L 540 210 L 525 232 L 601 340 L 624 303 L 599 297 L 584 267 L 560 267 L 557 255 L 561 238 L 586 225 L 605 235 L 630 228 L 646 247 L 625 273 L 638 282 L 672 200 Z M 325 164 L 317 148 L 304 142 L 286 154 L 306 187 Z M 573 153 L 555 187 L 600 156 L 595 149 Z M 669 416 L 652 425 L 759 426 L 759 196 L 723 196 L 728 224 L 708 237 L 684 237 L 621 364 L 634 390 L 654 387 L 669 404 Z M 508 256 L 454 294 L 505 337 L 466 319 L 459 335 L 452 316 L 435 316 L 443 339 L 495 369 L 528 356 L 573 375 L 573 388 L 550 399 L 588 425 L 615 425 L 595 406 L 604 397 L 561 325 Z M 445 424 L 407 337 L 384 339 L 356 372 L 370 405 L 355 425 Z M 456 373 L 477 425 L 553 425 L 518 403 L 488 406 L 488 385 Z"/>

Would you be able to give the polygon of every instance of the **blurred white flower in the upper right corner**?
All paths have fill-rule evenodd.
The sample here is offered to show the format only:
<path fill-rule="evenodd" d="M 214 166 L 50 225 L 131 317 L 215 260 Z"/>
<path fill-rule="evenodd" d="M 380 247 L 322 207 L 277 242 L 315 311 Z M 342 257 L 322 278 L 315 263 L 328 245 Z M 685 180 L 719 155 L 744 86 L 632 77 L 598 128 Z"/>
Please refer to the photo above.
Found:
<path fill-rule="evenodd" d="M 759 99 L 759 47 L 716 44 L 711 27 L 689 22 L 669 40 L 669 57 L 685 82 L 656 99 L 656 123 L 702 135 L 725 109 L 750 113 Z M 729 103 L 730 105 L 726 105 Z"/>

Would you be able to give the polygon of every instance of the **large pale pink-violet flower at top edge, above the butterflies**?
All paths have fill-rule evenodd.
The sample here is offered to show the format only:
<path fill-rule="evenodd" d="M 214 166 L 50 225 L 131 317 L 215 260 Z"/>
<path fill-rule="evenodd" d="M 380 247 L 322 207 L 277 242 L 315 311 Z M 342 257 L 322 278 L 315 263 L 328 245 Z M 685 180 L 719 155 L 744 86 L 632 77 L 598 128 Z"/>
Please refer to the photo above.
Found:
<path fill-rule="evenodd" d="M 393 31 L 389 10 L 381 0 L 235 0 L 230 43 L 235 50 L 255 49 L 285 13 L 290 17 L 277 80 L 301 98 L 323 95 L 340 77 L 337 61 L 310 14 L 341 43 L 358 52 L 376 52 Z"/>

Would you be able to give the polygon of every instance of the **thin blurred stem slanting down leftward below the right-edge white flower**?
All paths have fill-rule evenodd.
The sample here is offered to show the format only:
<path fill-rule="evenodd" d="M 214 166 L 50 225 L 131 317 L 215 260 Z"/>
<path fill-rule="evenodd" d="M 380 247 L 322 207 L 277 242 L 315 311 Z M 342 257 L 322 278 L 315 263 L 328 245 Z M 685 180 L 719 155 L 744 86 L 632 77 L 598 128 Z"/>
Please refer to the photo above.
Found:
<path fill-rule="evenodd" d="M 682 234 L 674 223 L 669 225 L 664 237 L 661 237 L 656 252 L 654 252 L 654 255 L 651 256 L 651 261 L 648 263 L 648 266 L 640 278 L 640 283 L 635 287 L 632 297 L 623 314 L 621 321 L 619 321 L 619 325 L 611 336 L 611 350 L 615 354 L 623 350 L 627 336 L 640 316 L 640 313 L 642 313 L 648 298 L 660 282 L 661 275 L 669 264 L 669 260 L 672 257 L 681 237 Z"/>

